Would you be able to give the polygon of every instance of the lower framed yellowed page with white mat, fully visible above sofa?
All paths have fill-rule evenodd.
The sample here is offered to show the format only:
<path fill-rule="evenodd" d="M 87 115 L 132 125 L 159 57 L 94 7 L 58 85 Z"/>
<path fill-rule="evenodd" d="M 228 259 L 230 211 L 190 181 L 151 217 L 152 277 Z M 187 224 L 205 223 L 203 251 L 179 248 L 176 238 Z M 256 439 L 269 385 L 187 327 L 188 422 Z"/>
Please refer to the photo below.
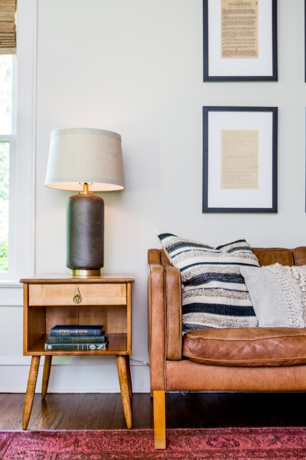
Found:
<path fill-rule="evenodd" d="M 203 107 L 203 212 L 277 212 L 277 107 Z"/>

